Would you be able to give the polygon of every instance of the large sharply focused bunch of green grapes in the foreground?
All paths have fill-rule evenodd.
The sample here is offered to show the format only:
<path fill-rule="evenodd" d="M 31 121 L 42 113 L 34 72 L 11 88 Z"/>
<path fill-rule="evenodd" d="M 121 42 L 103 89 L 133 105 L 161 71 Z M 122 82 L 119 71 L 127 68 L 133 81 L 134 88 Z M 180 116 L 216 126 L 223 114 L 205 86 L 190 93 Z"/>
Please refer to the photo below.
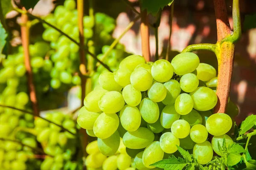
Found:
<path fill-rule="evenodd" d="M 213 150 L 220 154 L 218 142 L 225 138 L 227 145 L 233 143 L 226 133 L 232 127 L 230 116 L 238 109 L 229 102 L 227 113 L 236 113 L 212 114 L 217 103 L 211 89 L 216 87 L 216 70 L 200 63 L 194 53 L 178 54 L 172 62 L 145 62 L 131 55 L 115 72 L 103 72 L 98 81 L 99 86 L 85 97 L 77 122 L 98 138 L 105 156 L 116 154 L 121 137 L 135 153 L 138 170 L 154 168 L 151 164 L 175 153 L 176 145 L 192 150 L 198 163 L 207 164 Z"/>

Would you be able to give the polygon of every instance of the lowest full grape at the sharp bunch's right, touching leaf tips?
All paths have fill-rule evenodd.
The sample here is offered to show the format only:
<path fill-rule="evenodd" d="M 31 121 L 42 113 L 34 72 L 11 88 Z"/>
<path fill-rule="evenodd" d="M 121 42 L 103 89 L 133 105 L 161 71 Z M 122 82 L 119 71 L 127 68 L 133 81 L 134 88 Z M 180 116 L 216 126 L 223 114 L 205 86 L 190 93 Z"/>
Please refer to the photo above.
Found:
<path fill-rule="evenodd" d="M 195 159 L 197 159 L 199 164 L 207 164 L 209 161 L 212 160 L 212 144 L 209 141 L 195 144 L 193 148 L 193 156 Z"/>

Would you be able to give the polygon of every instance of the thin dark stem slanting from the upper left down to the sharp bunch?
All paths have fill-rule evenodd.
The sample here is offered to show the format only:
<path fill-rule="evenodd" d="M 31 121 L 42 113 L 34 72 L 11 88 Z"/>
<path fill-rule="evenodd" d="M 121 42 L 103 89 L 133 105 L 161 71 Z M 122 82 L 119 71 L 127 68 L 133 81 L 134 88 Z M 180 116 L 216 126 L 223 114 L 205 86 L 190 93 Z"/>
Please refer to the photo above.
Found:
<path fill-rule="evenodd" d="M 72 42 L 74 42 L 76 45 L 78 45 L 80 48 L 83 48 L 84 51 L 89 54 L 91 57 L 93 57 L 94 59 L 96 59 L 101 65 L 103 65 L 103 67 L 105 67 L 108 71 L 111 71 L 111 69 L 109 68 L 108 65 L 106 65 L 105 63 L 103 63 L 102 61 L 100 61 L 94 54 L 92 54 L 85 46 L 80 46 L 79 42 L 77 42 L 76 40 L 74 40 L 72 37 L 70 37 L 69 35 L 67 35 L 66 33 L 64 33 L 63 31 L 61 31 L 59 28 L 53 26 L 52 24 L 48 23 L 47 21 L 41 19 L 40 17 L 37 17 L 35 15 L 30 14 L 27 11 L 23 11 L 19 8 L 14 8 L 15 11 L 19 12 L 20 14 L 27 14 L 29 17 L 35 18 L 37 20 L 39 20 L 41 23 L 47 24 L 48 26 L 54 28 L 56 31 L 58 31 L 59 33 L 61 33 L 62 35 L 64 35 L 65 37 L 67 37 L 68 39 L 70 39 Z"/>

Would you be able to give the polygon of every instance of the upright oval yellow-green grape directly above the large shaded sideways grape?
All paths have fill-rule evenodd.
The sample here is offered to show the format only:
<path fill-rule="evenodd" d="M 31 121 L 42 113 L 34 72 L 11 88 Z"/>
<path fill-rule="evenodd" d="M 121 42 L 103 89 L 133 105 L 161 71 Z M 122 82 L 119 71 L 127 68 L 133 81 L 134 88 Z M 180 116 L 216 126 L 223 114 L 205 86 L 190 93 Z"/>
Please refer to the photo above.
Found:
<path fill-rule="evenodd" d="M 136 107 L 125 105 L 120 111 L 120 121 L 122 127 L 127 131 L 135 131 L 140 127 L 140 111 Z"/>

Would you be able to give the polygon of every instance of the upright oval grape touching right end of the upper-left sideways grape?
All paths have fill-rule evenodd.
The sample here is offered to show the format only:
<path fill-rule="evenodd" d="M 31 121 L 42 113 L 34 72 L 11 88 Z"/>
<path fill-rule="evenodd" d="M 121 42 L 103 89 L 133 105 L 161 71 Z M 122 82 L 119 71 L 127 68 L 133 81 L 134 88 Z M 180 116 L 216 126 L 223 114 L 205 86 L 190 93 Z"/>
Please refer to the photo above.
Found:
<path fill-rule="evenodd" d="M 142 97 L 140 91 L 136 90 L 134 87 L 132 87 L 132 85 L 127 85 L 125 88 L 123 88 L 122 96 L 125 103 L 130 106 L 139 105 Z"/>

